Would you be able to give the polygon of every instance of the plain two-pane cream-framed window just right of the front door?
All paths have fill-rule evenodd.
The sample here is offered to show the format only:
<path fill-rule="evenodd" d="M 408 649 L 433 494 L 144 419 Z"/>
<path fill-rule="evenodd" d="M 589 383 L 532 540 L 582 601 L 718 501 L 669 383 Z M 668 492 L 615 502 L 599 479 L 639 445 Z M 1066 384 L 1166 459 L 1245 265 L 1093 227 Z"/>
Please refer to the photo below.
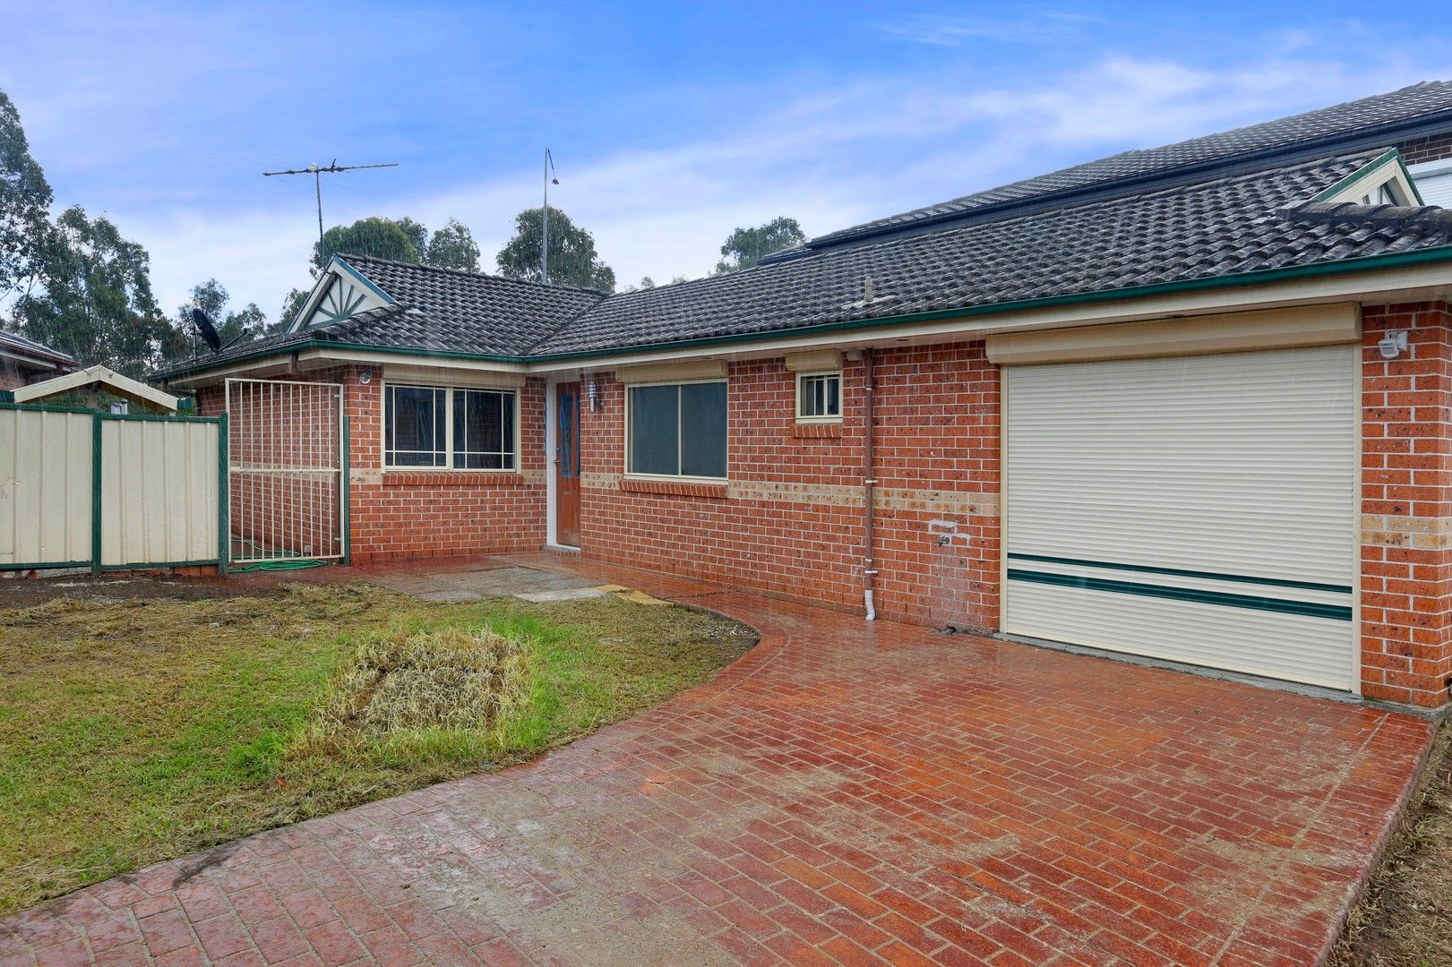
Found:
<path fill-rule="evenodd" d="M 726 476 L 726 383 L 632 386 L 626 472 Z"/>

